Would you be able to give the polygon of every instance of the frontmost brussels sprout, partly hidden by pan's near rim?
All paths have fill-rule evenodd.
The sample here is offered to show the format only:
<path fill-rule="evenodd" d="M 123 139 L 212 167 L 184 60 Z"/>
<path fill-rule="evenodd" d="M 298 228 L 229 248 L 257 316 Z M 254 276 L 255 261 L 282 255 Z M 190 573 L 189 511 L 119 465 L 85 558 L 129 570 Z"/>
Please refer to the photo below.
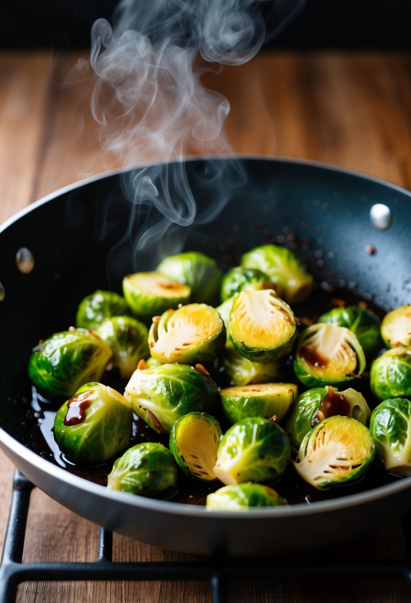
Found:
<path fill-rule="evenodd" d="M 286 499 L 263 484 L 223 486 L 207 496 L 206 509 L 215 511 L 247 511 L 256 507 L 287 505 Z"/>

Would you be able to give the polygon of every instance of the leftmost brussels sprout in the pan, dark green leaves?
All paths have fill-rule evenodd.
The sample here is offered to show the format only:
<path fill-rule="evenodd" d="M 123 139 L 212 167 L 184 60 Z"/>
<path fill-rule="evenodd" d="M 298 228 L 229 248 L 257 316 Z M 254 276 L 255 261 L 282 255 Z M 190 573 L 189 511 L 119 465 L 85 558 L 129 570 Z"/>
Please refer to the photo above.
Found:
<path fill-rule="evenodd" d="M 69 398 L 82 384 L 101 379 L 111 353 L 110 346 L 93 331 L 54 333 L 34 348 L 28 374 L 43 396 Z"/>

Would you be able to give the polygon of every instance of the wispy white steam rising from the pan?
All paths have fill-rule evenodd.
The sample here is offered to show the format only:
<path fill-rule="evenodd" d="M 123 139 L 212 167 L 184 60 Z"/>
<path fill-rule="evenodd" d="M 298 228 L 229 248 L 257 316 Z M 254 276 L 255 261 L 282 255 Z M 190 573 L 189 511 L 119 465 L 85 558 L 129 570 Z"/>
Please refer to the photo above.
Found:
<path fill-rule="evenodd" d="M 90 63 L 97 78 L 91 109 L 101 126 L 102 147 L 128 168 L 163 162 L 124 176 L 124 192 L 134 207 L 127 233 L 134 238 L 134 268 L 148 247 L 152 262 L 177 252 L 184 241 L 173 238 L 174 227 L 211 219 L 233 188 L 242 186 L 239 162 L 230 168 L 212 162 L 208 176 L 219 195 L 210 199 L 207 218 L 198 216 L 181 159 L 231 154 L 224 133 L 230 103 L 204 88 L 201 77 L 250 60 L 267 38 L 266 22 L 277 32 L 304 1 L 121 0 L 113 25 L 104 19 L 93 25 Z M 160 240 L 166 250 L 154 245 Z"/>

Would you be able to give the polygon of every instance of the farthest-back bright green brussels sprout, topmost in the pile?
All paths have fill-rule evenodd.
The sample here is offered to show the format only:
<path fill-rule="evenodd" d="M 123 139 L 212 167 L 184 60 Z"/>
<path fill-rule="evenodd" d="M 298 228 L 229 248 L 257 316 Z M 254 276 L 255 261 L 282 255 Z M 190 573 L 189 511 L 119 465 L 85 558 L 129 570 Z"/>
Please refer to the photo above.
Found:
<path fill-rule="evenodd" d="M 259 268 L 267 274 L 269 280 L 283 291 L 287 303 L 300 303 L 312 291 L 313 277 L 286 247 L 272 244 L 255 247 L 243 255 L 241 265 L 246 268 Z"/>

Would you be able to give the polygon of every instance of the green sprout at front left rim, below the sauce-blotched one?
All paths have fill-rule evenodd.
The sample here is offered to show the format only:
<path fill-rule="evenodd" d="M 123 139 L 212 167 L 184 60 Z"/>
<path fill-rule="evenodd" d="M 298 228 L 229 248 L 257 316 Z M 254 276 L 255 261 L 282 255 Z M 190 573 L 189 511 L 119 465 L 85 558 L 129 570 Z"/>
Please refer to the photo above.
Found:
<path fill-rule="evenodd" d="M 168 498 L 178 487 L 178 467 L 163 444 L 145 442 L 126 450 L 108 474 L 107 488 L 150 498 Z"/>

